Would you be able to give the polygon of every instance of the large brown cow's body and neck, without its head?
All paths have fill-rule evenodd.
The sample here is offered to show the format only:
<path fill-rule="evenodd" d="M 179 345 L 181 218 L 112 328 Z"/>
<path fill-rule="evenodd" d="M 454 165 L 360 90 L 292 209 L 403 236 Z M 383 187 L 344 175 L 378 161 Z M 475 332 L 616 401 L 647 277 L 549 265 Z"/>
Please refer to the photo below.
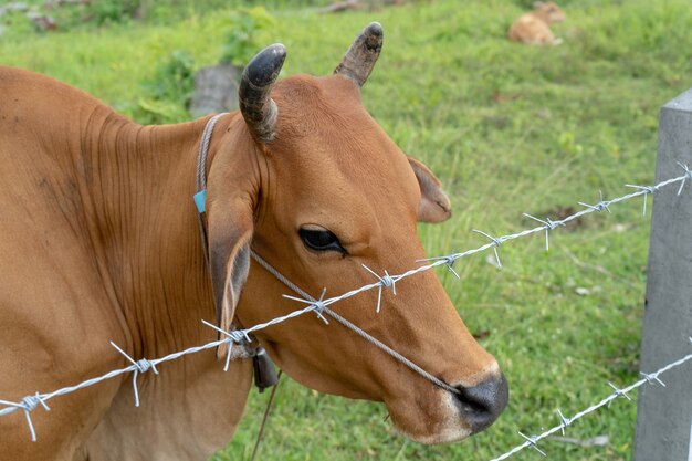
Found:
<path fill-rule="evenodd" d="M 0 99 L 2 398 L 127 366 L 109 340 L 134 357 L 213 340 L 200 323 L 213 301 L 196 217 L 174 211 L 190 208 L 205 121 L 141 127 L 12 69 L 0 71 Z M 55 398 L 32 413 L 40 443 L 17 411 L 0 418 L 0 447 L 12 441 L 13 460 L 206 459 L 240 419 L 249 362 L 224 374 L 209 352 L 141 374 L 139 408 L 128 376 Z"/>

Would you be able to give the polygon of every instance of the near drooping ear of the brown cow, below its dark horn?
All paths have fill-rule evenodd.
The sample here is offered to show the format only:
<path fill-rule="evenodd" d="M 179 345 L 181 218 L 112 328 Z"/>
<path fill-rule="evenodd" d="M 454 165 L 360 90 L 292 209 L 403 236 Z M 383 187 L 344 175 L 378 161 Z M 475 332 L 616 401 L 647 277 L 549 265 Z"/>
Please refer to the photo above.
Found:
<path fill-rule="evenodd" d="M 207 222 L 217 323 L 228 332 L 250 269 L 250 243 L 254 231 L 252 203 L 238 197 L 230 202 L 210 200 Z M 219 357 L 227 352 L 227 343 L 217 349 Z"/>

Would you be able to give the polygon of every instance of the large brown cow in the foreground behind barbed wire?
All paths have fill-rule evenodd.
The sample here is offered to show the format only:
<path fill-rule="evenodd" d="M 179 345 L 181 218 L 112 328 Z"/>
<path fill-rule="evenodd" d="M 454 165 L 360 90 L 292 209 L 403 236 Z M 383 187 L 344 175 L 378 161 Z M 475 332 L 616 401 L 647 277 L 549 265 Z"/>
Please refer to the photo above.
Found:
<path fill-rule="evenodd" d="M 400 273 L 424 253 L 417 221 L 450 216 L 439 180 L 360 104 L 381 48 L 368 25 L 335 75 L 274 84 L 285 51 L 248 65 L 241 111 L 211 137 L 202 249 L 191 201 L 209 117 L 140 126 L 67 85 L 0 70 L 0 398 L 20 401 L 128 363 L 216 338 L 200 319 L 250 326 L 291 312 L 287 290 L 250 264 L 252 248 L 313 295 Z M 210 270 L 205 263 L 210 255 Z M 249 275 L 245 275 L 249 268 Z M 244 285 L 244 286 L 243 286 Z M 240 296 L 242 290 L 242 297 Z M 216 297 L 214 297 L 216 294 Z M 384 401 L 423 443 L 462 440 L 507 401 L 495 359 L 466 331 L 432 271 L 333 308 L 457 387 L 443 390 L 338 324 L 304 315 L 258 333 L 291 377 L 324 392 Z M 0 417 L 7 460 L 203 460 L 240 420 L 252 376 L 212 350 Z"/>

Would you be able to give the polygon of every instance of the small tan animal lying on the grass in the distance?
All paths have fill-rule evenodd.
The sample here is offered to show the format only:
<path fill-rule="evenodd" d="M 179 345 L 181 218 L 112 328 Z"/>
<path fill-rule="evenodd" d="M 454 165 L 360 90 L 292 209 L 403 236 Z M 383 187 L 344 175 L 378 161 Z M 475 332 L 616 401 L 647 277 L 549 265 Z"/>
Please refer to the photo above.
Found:
<path fill-rule="evenodd" d="M 565 13 L 555 2 L 537 1 L 533 12 L 522 14 L 514 21 L 507 36 L 514 42 L 530 45 L 558 45 L 563 40 L 553 35 L 549 24 L 564 20 Z"/>

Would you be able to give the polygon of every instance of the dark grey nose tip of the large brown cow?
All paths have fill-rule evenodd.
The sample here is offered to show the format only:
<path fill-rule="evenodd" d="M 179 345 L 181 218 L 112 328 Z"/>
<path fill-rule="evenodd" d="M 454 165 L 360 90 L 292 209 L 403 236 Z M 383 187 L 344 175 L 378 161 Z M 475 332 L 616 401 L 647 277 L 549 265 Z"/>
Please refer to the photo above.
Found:
<path fill-rule="evenodd" d="M 486 379 L 478 386 L 459 387 L 457 395 L 463 417 L 471 423 L 473 432 L 480 432 L 500 416 L 510 398 L 507 380 L 499 377 Z"/>

